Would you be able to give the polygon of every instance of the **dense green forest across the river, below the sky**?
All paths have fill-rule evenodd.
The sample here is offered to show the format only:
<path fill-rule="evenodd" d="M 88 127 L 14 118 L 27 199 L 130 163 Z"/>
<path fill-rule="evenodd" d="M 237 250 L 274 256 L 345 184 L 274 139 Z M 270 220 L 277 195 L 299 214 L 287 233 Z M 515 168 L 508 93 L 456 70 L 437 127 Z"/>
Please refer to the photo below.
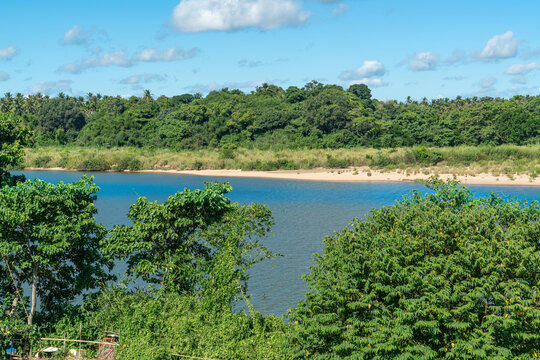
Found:
<path fill-rule="evenodd" d="M 316 81 L 157 99 L 148 90 L 129 99 L 6 93 L 0 113 L 20 116 L 33 130 L 34 146 L 299 149 L 540 141 L 540 96 L 382 101 L 366 85 L 344 90 Z"/>

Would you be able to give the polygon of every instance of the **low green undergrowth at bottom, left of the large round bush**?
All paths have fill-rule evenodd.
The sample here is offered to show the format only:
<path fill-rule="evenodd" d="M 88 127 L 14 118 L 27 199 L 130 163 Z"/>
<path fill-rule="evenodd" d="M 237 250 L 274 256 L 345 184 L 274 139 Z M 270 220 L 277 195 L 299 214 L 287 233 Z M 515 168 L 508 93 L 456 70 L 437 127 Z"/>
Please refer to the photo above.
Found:
<path fill-rule="evenodd" d="M 283 359 L 287 325 L 275 316 L 227 309 L 209 311 L 189 295 L 114 287 L 55 325 L 53 335 L 95 339 L 120 333 L 115 359 L 177 359 L 171 354 L 217 359 Z"/>

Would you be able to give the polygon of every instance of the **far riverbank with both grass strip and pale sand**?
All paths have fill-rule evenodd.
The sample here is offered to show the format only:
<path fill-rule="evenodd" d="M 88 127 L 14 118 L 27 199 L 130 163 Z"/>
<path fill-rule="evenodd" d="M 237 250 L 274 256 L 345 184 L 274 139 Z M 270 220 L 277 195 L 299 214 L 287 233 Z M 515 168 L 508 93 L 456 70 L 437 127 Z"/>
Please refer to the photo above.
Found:
<path fill-rule="evenodd" d="M 26 150 L 25 168 L 143 171 L 315 181 L 426 181 L 540 185 L 540 146 L 398 149 L 203 149 L 41 147 Z"/>

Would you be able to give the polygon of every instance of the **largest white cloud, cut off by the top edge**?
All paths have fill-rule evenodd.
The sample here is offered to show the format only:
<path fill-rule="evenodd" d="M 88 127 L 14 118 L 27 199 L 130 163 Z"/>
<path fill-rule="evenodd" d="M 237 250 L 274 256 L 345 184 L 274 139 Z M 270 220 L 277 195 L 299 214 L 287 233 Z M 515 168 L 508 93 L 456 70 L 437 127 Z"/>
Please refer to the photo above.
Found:
<path fill-rule="evenodd" d="M 170 19 L 180 32 L 270 30 L 303 23 L 299 0 L 181 0 Z"/>

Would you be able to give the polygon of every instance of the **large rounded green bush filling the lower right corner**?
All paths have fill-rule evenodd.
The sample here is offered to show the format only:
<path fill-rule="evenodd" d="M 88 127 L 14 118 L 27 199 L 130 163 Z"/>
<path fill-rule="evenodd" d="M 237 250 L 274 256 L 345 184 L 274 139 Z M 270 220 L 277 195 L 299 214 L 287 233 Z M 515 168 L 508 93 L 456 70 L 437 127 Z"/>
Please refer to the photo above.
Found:
<path fill-rule="evenodd" d="M 538 203 L 429 187 L 325 239 L 290 313 L 291 358 L 539 354 Z"/>

